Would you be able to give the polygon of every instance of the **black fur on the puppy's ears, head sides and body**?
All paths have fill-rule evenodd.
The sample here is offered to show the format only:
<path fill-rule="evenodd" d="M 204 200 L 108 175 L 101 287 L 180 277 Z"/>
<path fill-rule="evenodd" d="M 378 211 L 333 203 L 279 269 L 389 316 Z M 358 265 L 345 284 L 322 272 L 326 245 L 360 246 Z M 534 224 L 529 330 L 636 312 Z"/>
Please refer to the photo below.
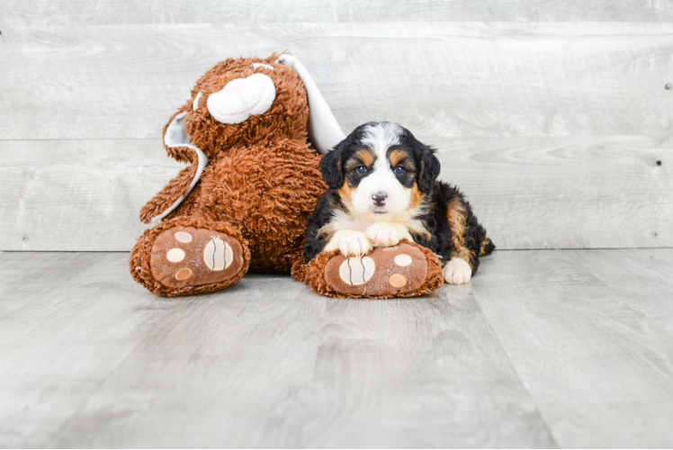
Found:
<path fill-rule="evenodd" d="M 306 229 L 304 257 L 308 261 L 316 257 L 328 244 L 330 237 L 319 233 L 319 229 L 328 224 L 335 209 L 346 211 L 345 204 L 341 201 L 337 190 L 345 182 L 348 182 L 352 186 L 357 185 L 356 177 L 349 175 L 346 164 L 347 161 L 354 157 L 357 151 L 363 148 L 361 144 L 363 132 L 370 125 L 375 125 L 375 122 L 365 123 L 356 128 L 348 137 L 337 144 L 334 150 L 320 160 L 320 169 L 329 188 L 320 198 L 318 207 L 310 217 L 309 225 Z M 417 219 L 423 221 L 431 237 L 427 238 L 426 236 L 412 233 L 414 241 L 431 249 L 442 260 L 448 261 L 454 250 L 452 233 L 459 232 L 459 230 L 451 229 L 447 212 L 450 204 L 460 203 L 467 216 L 467 226 L 462 236 L 462 241 L 465 247 L 470 250 L 472 257 L 468 263 L 472 267 L 472 274 L 476 274 L 479 267 L 482 244 L 484 244 L 484 255 L 489 255 L 495 248 L 489 238 L 486 237 L 486 230 L 477 221 L 476 216 L 471 210 L 470 203 L 464 199 L 462 193 L 449 184 L 436 181 L 441 167 L 439 160 L 435 157 L 435 149 L 418 141 L 406 129 L 402 129 L 399 141 L 399 146 L 395 148 L 403 149 L 414 158 L 414 167 L 408 168 L 408 174 L 413 174 L 410 184 L 408 180 L 400 179 L 399 181 L 402 184 L 408 184 L 407 187 L 415 182 L 418 190 L 426 193 L 424 202 L 428 206 L 426 208 L 427 212 L 418 216 Z"/>

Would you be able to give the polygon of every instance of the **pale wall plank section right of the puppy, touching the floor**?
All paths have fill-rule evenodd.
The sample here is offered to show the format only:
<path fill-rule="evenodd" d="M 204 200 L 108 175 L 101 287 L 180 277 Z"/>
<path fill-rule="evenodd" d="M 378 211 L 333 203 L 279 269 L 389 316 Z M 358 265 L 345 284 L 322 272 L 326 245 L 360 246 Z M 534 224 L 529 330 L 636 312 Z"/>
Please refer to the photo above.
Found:
<path fill-rule="evenodd" d="M 673 247 L 669 143 L 629 136 L 424 141 L 438 148 L 440 178 L 465 193 L 499 248 Z"/>

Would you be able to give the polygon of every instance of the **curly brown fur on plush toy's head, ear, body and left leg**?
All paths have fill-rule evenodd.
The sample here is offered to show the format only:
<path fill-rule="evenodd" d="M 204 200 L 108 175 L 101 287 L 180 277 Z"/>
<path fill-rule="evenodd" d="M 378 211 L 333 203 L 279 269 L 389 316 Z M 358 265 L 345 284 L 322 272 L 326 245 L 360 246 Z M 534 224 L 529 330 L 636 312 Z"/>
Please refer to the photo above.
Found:
<path fill-rule="evenodd" d="M 131 251 L 130 272 L 149 291 L 162 295 L 217 291 L 236 283 L 248 267 L 256 272 L 286 272 L 301 260 L 308 215 L 327 185 L 320 174 L 319 154 L 307 140 L 306 89 L 300 76 L 277 64 L 277 58 L 274 54 L 218 63 L 196 83 L 191 98 L 166 124 L 164 136 L 175 117 L 186 112 L 186 135 L 210 161 L 179 206 L 156 227 L 147 229 Z M 209 95 L 220 92 L 231 80 L 256 73 L 274 82 L 275 100 L 266 112 L 234 124 L 211 117 L 206 106 Z M 146 223 L 184 196 L 196 174 L 198 157 L 193 148 L 169 147 L 166 142 L 165 148 L 169 157 L 191 166 L 143 206 L 140 220 Z M 189 288 L 161 284 L 150 264 L 152 247 L 162 232 L 178 226 L 217 230 L 236 238 L 244 248 L 245 267 L 221 283 Z"/>

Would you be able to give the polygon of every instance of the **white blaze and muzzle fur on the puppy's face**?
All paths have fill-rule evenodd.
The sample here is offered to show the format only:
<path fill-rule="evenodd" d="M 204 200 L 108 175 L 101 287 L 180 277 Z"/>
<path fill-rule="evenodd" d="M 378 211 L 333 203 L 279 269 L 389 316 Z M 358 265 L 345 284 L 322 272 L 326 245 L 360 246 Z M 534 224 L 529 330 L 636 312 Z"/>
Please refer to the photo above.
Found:
<path fill-rule="evenodd" d="M 406 189 L 393 173 L 388 160 L 388 149 L 399 144 L 401 129 L 395 123 L 380 123 L 365 130 L 363 145 L 376 155 L 372 173 L 363 178 L 352 195 L 353 211 L 371 221 L 392 221 L 392 216 L 402 214 L 411 204 L 411 190 Z M 385 205 L 375 207 L 372 195 L 385 193 Z"/>

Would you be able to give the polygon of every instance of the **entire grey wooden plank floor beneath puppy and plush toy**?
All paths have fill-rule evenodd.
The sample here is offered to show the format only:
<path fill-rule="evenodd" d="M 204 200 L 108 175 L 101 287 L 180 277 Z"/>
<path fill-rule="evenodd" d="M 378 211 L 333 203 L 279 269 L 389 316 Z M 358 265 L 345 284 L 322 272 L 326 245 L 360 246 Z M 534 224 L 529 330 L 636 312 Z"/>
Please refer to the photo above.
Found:
<path fill-rule="evenodd" d="M 0 447 L 670 447 L 673 249 L 498 251 L 419 299 L 156 297 L 0 253 Z"/>

